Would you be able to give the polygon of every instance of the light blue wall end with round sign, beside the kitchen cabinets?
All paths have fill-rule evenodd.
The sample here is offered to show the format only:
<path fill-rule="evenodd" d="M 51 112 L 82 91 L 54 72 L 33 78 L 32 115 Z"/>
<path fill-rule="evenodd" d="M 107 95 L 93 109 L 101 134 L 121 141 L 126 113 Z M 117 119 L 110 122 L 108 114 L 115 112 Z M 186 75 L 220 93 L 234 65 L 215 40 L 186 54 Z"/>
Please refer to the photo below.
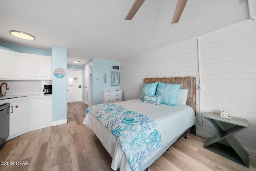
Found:
<path fill-rule="evenodd" d="M 52 71 L 62 68 L 67 74 L 67 48 L 52 46 Z M 52 121 L 67 119 L 67 75 L 57 78 L 52 73 Z"/>

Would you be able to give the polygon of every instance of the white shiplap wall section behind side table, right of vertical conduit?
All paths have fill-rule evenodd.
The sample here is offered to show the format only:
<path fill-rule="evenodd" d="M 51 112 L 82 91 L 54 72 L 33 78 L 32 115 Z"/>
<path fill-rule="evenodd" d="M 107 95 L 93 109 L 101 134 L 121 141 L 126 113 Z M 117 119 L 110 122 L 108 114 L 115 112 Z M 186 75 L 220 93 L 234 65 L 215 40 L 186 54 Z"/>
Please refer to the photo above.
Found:
<path fill-rule="evenodd" d="M 231 117 L 247 119 L 249 127 L 234 137 L 256 156 L 256 21 L 210 32 L 200 36 L 199 42 L 202 115 L 226 110 Z M 197 134 L 215 135 L 205 120 L 197 126 Z"/>

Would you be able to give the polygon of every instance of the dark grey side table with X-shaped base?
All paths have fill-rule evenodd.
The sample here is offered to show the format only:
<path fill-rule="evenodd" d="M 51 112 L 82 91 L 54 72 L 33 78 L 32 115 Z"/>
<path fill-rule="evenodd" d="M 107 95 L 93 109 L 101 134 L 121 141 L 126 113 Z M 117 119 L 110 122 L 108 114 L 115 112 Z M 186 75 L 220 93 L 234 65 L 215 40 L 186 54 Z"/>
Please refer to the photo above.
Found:
<path fill-rule="evenodd" d="M 206 113 L 204 118 L 216 135 L 207 139 L 204 148 L 226 157 L 236 163 L 249 167 L 248 153 L 236 141 L 233 134 L 248 127 L 246 119 L 220 117 L 220 114 Z"/>

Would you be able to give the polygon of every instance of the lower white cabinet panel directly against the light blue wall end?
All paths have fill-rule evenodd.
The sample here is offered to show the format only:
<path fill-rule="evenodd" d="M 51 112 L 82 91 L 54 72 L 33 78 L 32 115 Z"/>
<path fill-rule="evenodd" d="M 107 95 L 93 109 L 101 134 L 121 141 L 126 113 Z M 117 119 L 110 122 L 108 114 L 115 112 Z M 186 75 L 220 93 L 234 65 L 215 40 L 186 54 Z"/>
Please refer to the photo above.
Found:
<path fill-rule="evenodd" d="M 31 99 L 32 130 L 52 126 L 52 97 Z"/>

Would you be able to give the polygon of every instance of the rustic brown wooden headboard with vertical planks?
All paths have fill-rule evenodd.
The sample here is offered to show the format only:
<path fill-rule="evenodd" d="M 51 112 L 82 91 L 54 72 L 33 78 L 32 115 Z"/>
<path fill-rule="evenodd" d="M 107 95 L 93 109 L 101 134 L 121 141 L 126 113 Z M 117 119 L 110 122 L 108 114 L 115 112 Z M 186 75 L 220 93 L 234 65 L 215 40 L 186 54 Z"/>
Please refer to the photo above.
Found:
<path fill-rule="evenodd" d="M 188 89 L 186 104 L 191 106 L 196 113 L 196 77 L 144 78 L 146 84 L 155 82 L 182 84 L 180 89 Z"/>

